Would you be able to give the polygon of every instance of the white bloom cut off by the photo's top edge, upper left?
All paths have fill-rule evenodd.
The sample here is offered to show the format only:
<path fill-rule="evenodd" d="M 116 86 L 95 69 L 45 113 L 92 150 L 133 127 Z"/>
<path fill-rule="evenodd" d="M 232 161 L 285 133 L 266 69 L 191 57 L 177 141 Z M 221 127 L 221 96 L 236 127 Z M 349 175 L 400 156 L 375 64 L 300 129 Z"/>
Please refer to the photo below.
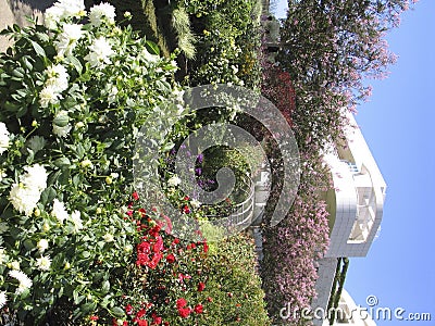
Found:
<path fill-rule="evenodd" d="M 45 25 L 53 29 L 61 20 L 79 16 L 84 11 L 85 3 L 83 0 L 59 0 L 46 10 Z"/>

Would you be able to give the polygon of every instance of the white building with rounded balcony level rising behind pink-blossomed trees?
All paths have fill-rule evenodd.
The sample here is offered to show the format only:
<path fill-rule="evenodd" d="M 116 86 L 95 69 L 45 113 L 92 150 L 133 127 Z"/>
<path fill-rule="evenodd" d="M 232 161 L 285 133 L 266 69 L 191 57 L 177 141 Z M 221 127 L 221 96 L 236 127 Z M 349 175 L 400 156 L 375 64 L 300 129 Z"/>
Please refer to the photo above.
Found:
<path fill-rule="evenodd" d="M 334 190 L 326 193 L 331 243 L 324 259 L 319 261 L 313 310 L 327 305 L 337 259 L 365 256 L 382 221 L 386 184 L 353 115 L 348 115 L 346 143 L 325 155 L 334 181 Z"/>

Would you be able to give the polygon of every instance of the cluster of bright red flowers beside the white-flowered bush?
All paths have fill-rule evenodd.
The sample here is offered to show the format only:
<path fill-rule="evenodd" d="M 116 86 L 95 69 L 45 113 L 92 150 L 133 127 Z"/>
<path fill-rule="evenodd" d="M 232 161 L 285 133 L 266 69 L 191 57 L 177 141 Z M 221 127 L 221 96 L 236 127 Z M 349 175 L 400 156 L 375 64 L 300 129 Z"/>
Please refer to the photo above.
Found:
<path fill-rule="evenodd" d="M 134 196 L 134 200 L 137 201 L 137 199 L 138 197 Z M 192 287 L 194 291 L 201 292 L 206 289 L 206 283 L 199 276 L 202 268 L 186 269 L 185 263 L 190 260 L 198 261 L 207 254 L 209 250 L 207 240 L 186 242 L 173 237 L 171 220 L 167 216 L 160 214 L 161 218 L 154 221 L 151 216 L 159 213 L 152 210 L 146 212 L 144 209 L 137 209 L 135 201 L 128 206 L 126 220 L 132 221 L 140 234 L 140 240 L 136 246 L 136 266 L 146 267 L 141 268 L 139 273 L 147 274 L 149 284 L 144 284 L 144 291 L 147 292 L 152 303 L 125 302 L 126 319 L 128 321 L 125 322 L 127 323 L 125 325 L 128 323 L 139 326 L 170 325 L 167 319 L 171 321 L 176 316 L 188 318 L 192 314 L 202 314 L 204 312 L 202 303 L 195 302 L 189 305 L 184 298 L 176 300 L 174 314 L 169 315 L 166 315 L 167 310 L 160 311 L 159 304 L 154 306 L 153 303 L 170 304 L 173 300 L 170 293 L 173 290 L 189 291 Z"/>

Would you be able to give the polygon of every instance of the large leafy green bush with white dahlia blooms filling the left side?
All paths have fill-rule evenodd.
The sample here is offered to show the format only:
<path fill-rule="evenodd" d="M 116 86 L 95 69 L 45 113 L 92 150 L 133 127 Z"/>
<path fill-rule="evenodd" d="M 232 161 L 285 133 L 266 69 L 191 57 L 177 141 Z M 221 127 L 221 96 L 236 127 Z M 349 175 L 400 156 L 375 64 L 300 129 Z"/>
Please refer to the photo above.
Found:
<path fill-rule="evenodd" d="M 83 14 L 47 20 L 50 29 L 3 32 L 15 43 L 0 55 L 9 133 L 0 155 L 0 289 L 10 311 L 35 325 L 64 302 L 74 318 L 119 309 L 117 276 L 136 236 L 124 205 L 137 129 L 176 89 L 176 66 L 154 43 L 109 16 L 79 24 Z M 76 24 L 74 37 L 66 24 Z M 178 109 L 165 109 L 176 116 Z"/>

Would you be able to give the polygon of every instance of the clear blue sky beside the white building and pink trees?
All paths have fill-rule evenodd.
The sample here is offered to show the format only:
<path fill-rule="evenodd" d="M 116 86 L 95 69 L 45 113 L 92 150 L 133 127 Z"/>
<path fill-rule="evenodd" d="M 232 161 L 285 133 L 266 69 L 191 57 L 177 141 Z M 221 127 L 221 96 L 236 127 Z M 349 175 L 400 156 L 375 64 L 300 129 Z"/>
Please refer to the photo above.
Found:
<path fill-rule="evenodd" d="M 283 12 L 286 1 L 281 1 Z M 357 304 L 432 313 L 432 322 L 376 321 L 377 325 L 435 325 L 435 1 L 421 0 L 389 33 L 398 54 L 359 123 L 387 183 L 382 231 L 366 258 L 351 259 L 345 288 Z"/>

